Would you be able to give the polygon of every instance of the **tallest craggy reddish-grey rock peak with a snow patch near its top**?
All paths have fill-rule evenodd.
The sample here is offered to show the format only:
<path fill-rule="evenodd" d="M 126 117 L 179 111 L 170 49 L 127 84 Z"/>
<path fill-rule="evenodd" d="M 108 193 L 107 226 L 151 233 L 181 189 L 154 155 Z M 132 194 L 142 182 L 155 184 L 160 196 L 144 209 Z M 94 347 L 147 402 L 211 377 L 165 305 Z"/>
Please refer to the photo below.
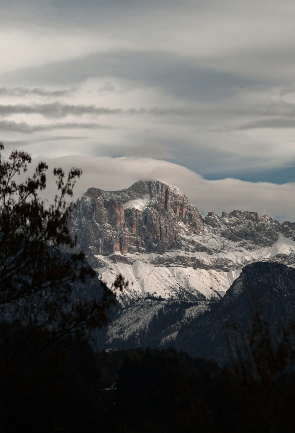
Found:
<path fill-rule="evenodd" d="M 164 253 L 180 249 L 187 233 L 203 231 L 203 218 L 177 188 L 139 181 L 122 191 L 89 188 L 70 221 L 88 259 L 115 252 Z"/>

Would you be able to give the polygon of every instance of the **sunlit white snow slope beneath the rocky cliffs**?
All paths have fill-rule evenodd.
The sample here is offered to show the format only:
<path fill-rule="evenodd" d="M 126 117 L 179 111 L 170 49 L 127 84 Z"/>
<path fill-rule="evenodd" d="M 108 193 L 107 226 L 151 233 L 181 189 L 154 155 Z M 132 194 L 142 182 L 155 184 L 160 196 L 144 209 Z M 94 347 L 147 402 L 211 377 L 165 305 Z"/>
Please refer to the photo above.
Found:
<path fill-rule="evenodd" d="M 214 239 L 208 240 L 212 247 Z M 120 257 L 120 253 L 117 255 Z M 172 251 L 160 256 L 154 253 L 121 256 L 124 262 L 117 263 L 113 262 L 113 257 L 99 256 L 103 266 L 97 268 L 97 272 L 102 274 L 109 287 L 116 275 L 122 274 L 130 283 L 128 296 L 132 298 L 153 294 L 169 299 L 175 296 L 175 289 L 183 287 L 192 288 L 196 295 L 200 292 L 210 299 L 211 296 L 216 296 L 216 293 L 223 296 L 233 281 L 238 278 L 241 269 L 249 263 L 281 261 L 295 267 L 295 241 L 280 235 L 272 246 L 259 248 L 256 251 L 236 248 L 236 245 L 228 242 L 226 250 L 215 253 Z M 185 259 L 187 263 L 194 262 L 199 265 L 201 263 L 203 268 L 155 264 L 157 262 L 177 263 L 179 257 Z M 213 268 L 219 263 L 225 270 Z"/>

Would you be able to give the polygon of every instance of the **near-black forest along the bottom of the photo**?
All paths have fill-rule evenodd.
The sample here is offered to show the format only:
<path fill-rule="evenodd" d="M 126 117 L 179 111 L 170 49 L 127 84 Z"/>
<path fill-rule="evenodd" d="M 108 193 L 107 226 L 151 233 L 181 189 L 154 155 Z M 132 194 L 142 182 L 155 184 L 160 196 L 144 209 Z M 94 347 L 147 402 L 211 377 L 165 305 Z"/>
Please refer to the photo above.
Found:
<path fill-rule="evenodd" d="M 6 405 L 5 432 L 293 432 L 295 376 L 247 377 L 167 349 L 66 349 Z M 40 370 L 41 372 L 41 370 Z M 24 396 L 26 398 L 24 398 Z"/>

